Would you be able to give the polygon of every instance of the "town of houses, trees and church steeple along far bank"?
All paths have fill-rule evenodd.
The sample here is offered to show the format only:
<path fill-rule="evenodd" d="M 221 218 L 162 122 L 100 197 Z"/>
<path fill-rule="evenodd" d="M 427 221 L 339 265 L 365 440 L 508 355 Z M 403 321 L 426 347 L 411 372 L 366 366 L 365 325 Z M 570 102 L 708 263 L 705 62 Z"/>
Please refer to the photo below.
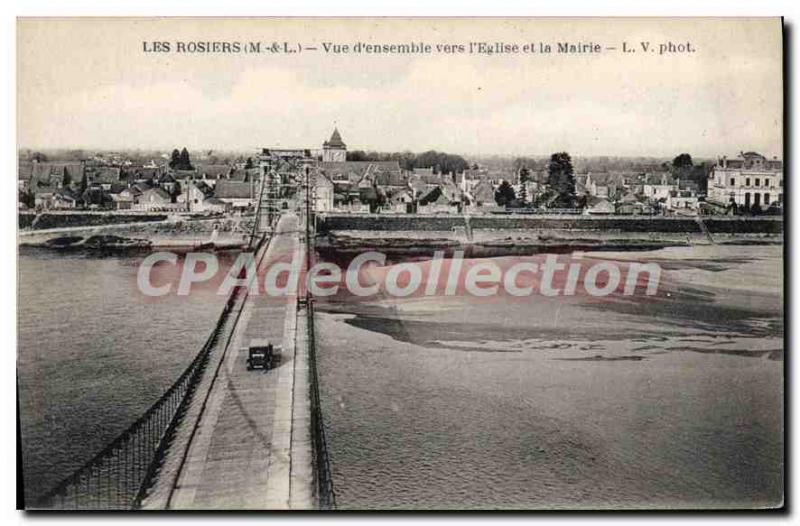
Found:
<path fill-rule="evenodd" d="M 781 215 L 783 162 L 756 152 L 695 162 L 518 157 L 467 161 L 429 151 L 348 151 L 338 129 L 312 160 L 316 212 L 379 214 Z M 21 151 L 20 211 L 86 210 L 245 215 L 272 156 L 220 160 L 184 148 L 155 159 L 81 151 L 69 159 Z M 623 160 L 624 161 L 624 160 Z M 279 173 L 290 192 L 298 174 Z M 288 194 L 282 197 L 291 197 Z"/>

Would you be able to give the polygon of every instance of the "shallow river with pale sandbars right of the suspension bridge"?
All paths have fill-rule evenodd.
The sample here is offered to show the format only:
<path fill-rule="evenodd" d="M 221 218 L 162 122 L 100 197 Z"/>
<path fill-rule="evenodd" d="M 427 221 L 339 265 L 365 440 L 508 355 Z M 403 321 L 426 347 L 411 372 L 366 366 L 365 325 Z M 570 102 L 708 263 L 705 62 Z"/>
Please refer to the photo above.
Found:
<path fill-rule="evenodd" d="M 337 505 L 777 505 L 781 253 L 586 254 L 658 262 L 655 298 L 320 304 Z"/>

